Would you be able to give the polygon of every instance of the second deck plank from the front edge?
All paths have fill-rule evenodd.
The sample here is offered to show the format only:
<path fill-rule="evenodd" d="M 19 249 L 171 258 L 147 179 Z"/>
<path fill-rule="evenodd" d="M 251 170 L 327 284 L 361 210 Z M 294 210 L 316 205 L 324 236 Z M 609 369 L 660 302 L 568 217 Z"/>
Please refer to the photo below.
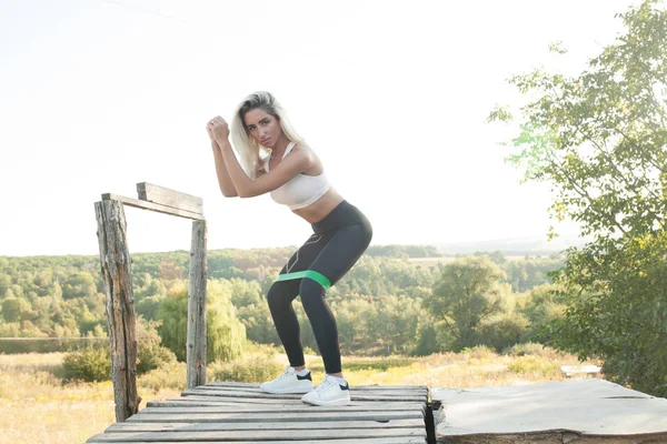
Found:
<path fill-rule="evenodd" d="M 340 428 L 424 428 L 424 420 L 378 421 L 318 421 L 303 422 L 298 417 L 295 422 L 263 423 L 116 423 L 107 427 L 108 433 L 128 432 L 212 432 L 212 431 L 255 431 L 255 430 L 340 430 Z"/>

